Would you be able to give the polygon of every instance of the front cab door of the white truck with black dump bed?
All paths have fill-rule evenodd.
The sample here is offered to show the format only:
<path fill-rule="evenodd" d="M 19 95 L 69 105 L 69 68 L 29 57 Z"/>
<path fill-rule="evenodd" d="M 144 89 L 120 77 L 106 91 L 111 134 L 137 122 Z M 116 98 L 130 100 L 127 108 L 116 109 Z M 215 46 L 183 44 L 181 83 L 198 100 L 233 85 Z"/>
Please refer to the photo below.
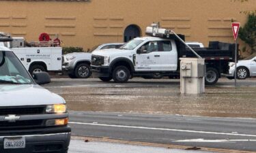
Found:
<path fill-rule="evenodd" d="M 158 42 L 148 41 L 143 44 L 134 57 L 135 71 L 158 71 Z"/>

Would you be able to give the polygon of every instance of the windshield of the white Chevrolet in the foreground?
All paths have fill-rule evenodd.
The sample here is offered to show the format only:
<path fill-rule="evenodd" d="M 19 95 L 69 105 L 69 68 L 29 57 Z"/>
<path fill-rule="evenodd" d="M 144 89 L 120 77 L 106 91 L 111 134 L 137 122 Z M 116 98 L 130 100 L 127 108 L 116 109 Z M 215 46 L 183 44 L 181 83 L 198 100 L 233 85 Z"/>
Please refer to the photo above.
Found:
<path fill-rule="evenodd" d="M 0 84 L 33 84 L 13 52 L 0 51 Z"/>

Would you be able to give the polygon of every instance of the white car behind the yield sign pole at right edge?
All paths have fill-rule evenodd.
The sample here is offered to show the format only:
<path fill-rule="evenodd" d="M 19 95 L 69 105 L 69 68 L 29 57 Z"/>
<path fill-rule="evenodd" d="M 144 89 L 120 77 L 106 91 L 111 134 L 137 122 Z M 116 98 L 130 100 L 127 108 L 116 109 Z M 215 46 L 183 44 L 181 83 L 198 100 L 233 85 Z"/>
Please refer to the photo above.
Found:
<path fill-rule="evenodd" d="M 235 63 L 229 63 L 229 76 L 227 78 L 233 79 L 235 73 Z M 252 54 L 244 58 L 244 60 L 240 60 L 237 63 L 237 78 L 240 80 L 244 80 L 248 77 L 256 76 L 256 54 Z"/>

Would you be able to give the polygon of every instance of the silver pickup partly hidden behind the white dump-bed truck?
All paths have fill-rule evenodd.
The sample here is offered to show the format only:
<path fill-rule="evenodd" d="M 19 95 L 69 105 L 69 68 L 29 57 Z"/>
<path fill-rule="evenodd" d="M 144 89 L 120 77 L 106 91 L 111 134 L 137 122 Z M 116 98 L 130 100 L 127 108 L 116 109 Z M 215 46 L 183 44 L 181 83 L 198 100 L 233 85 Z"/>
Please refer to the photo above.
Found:
<path fill-rule="evenodd" d="M 124 43 L 109 43 L 95 46 L 91 49 L 105 50 L 110 48 L 120 48 Z M 73 52 L 63 55 L 62 69 L 68 71 L 70 78 L 89 78 L 91 75 L 91 52 Z"/>

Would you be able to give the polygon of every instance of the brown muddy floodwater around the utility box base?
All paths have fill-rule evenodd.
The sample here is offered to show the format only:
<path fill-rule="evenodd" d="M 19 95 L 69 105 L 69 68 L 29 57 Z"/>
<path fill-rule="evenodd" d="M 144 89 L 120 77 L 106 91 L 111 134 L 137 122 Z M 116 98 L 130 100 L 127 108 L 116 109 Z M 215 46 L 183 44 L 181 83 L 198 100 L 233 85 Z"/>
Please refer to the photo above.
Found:
<path fill-rule="evenodd" d="M 256 117 L 256 87 L 209 87 L 203 95 L 180 95 L 179 87 L 50 90 L 78 111 Z"/>

